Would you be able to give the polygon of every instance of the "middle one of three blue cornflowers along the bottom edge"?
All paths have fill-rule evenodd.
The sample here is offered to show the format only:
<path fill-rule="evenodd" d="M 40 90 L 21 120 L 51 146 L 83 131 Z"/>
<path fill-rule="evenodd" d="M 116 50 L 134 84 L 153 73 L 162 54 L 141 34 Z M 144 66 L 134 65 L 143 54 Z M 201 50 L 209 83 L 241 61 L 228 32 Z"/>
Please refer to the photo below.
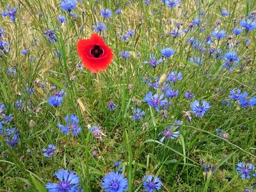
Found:
<path fill-rule="evenodd" d="M 127 191 L 128 180 L 121 173 L 109 172 L 103 177 L 102 188 L 107 192 Z"/>

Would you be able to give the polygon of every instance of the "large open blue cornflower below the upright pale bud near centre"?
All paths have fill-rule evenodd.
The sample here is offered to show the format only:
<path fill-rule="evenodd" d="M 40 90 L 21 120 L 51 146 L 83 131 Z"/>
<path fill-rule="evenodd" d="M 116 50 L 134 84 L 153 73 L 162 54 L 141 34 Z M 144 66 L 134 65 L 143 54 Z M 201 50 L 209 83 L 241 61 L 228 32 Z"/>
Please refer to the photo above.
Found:
<path fill-rule="evenodd" d="M 156 108 L 156 111 L 159 112 L 159 107 L 164 107 L 168 104 L 168 100 L 164 99 L 164 94 L 158 95 L 157 93 L 152 95 L 152 92 L 149 92 L 145 95 L 144 100 L 147 102 L 148 106 Z"/>

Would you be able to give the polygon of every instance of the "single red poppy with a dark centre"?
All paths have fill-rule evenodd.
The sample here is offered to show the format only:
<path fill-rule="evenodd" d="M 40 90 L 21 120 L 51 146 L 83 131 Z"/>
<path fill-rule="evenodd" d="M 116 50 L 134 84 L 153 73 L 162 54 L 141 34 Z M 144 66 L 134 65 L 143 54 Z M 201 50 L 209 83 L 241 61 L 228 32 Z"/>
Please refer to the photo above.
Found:
<path fill-rule="evenodd" d="M 77 42 L 77 53 L 84 67 L 93 73 L 106 70 L 114 56 L 111 48 L 96 33 L 93 33 L 91 38 L 80 39 Z"/>

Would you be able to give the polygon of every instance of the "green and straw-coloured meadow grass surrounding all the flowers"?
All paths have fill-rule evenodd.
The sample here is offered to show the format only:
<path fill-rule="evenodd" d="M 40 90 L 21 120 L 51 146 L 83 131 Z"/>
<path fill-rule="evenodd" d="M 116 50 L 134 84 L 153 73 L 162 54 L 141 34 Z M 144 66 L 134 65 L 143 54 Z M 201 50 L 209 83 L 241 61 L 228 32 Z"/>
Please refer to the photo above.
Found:
<path fill-rule="evenodd" d="M 15 23 L 9 17 L 0 20 L 0 28 L 6 31 L 3 40 L 10 44 L 10 51 L 0 56 L 0 104 L 5 104 L 7 115 L 13 114 L 8 126 L 20 132 L 20 142 L 12 149 L 4 136 L 0 136 L 0 191 L 44 191 L 47 182 L 57 182 L 54 173 L 60 168 L 79 175 L 84 191 L 100 191 L 102 177 L 115 170 L 115 161 L 122 161 L 128 191 L 143 191 L 142 178 L 146 174 L 157 175 L 162 180 L 162 191 L 252 189 L 255 178 L 241 179 L 236 164 L 242 161 L 255 164 L 255 106 L 243 109 L 238 102 L 223 106 L 221 101 L 228 100 L 229 91 L 234 88 L 248 92 L 249 97 L 256 94 L 255 30 L 232 35 L 232 19 L 236 18 L 237 28 L 239 20 L 253 12 L 256 1 L 184 1 L 182 8 L 173 9 L 158 0 L 152 0 L 148 7 L 142 0 L 118 1 L 118 5 L 115 2 L 83 0 L 74 9 L 76 19 L 61 10 L 57 0 L 0 2 L 1 12 L 8 4 L 18 7 Z M 101 8 L 111 9 L 113 17 L 101 17 Z M 117 8 L 121 8 L 121 15 L 116 15 Z M 177 38 L 168 35 L 175 22 L 181 22 L 182 29 L 188 29 L 201 10 L 205 13 L 200 26 Z M 228 10 L 230 15 L 222 17 L 221 10 Z M 60 24 L 58 15 L 65 15 L 67 22 Z M 218 20 L 227 36 L 220 42 L 214 40 L 212 46 L 227 52 L 227 38 L 232 35 L 231 50 L 236 50 L 241 58 L 234 72 L 222 68 L 223 61 L 210 56 L 209 46 L 203 54 L 188 43 L 191 36 L 204 43 Z M 76 44 L 80 38 L 89 38 L 95 33 L 96 22 L 105 22 L 107 29 L 100 35 L 115 56 L 108 70 L 92 74 L 86 68 L 80 71 L 76 67 L 80 61 Z M 44 37 L 45 29 L 54 30 L 58 42 L 50 44 Z M 119 36 L 127 29 L 135 29 L 135 34 L 125 42 Z M 244 45 L 246 38 L 251 42 L 248 47 Z M 33 46 L 35 40 L 38 45 Z M 236 48 L 237 40 L 240 43 Z M 175 54 L 156 68 L 143 63 L 149 60 L 150 53 L 161 58 L 164 47 L 172 47 Z M 27 56 L 20 54 L 24 48 L 29 49 Z M 54 56 L 56 51 L 61 52 L 61 58 Z M 130 51 L 131 57 L 120 58 L 120 51 Z M 197 66 L 189 62 L 191 56 L 199 56 L 204 63 Z M 16 68 L 16 75 L 6 73 L 11 67 Z M 179 90 L 179 96 L 172 99 L 164 121 L 161 113 L 143 100 L 146 93 L 156 91 L 148 88 L 141 78 L 155 79 L 174 70 L 182 72 L 183 79 L 171 84 Z M 44 83 L 45 87 L 35 81 Z M 67 92 L 57 108 L 47 104 L 53 84 L 56 90 Z M 26 86 L 34 88 L 35 93 L 24 92 Z M 211 104 L 202 118 L 191 114 L 190 123 L 184 117 L 184 112 L 191 110 L 191 100 L 183 96 L 188 90 L 195 93 L 195 99 L 205 99 Z M 141 106 L 136 105 L 134 97 L 141 100 Z M 26 108 L 14 107 L 19 99 L 25 102 Z M 109 111 L 109 100 L 116 104 L 115 111 Z M 37 113 L 35 108 L 39 109 Z M 143 109 L 145 118 L 131 121 L 133 108 Z M 60 132 L 57 126 L 65 124 L 65 116 L 73 113 L 82 127 L 77 137 Z M 29 123 L 31 120 L 35 124 Z M 159 142 L 159 132 L 175 120 L 182 121 L 180 137 Z M 95 139 L 88 131 L 88 124 L 98 125 L 106 136 Z M 229 137 L 220 140 L 216 129 L 227 132 Z M 49 159 L 42 154 L 42 148 L 48 144 L 57 147 Z M 96 158 L 93 152 L 97 153 Z M 214 173 L 205 173 L 202 161 L 215 166 Z"/>

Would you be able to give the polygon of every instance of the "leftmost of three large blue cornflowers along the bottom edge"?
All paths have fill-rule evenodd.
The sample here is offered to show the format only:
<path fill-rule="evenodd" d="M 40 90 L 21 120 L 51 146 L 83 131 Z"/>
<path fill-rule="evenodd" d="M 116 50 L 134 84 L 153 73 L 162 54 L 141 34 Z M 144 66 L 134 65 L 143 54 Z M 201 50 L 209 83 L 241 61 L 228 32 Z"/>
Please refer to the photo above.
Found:
<path fill-rule="evenodd" d="M 58 184 L 48 182 L 45 188 L 49 192 L 76 192 L 78 189 L 78 184 L 80 182 L 79 177 L 72 171 L 60 170 L 55 172 L 56 177 L 60 180 Z"/>

